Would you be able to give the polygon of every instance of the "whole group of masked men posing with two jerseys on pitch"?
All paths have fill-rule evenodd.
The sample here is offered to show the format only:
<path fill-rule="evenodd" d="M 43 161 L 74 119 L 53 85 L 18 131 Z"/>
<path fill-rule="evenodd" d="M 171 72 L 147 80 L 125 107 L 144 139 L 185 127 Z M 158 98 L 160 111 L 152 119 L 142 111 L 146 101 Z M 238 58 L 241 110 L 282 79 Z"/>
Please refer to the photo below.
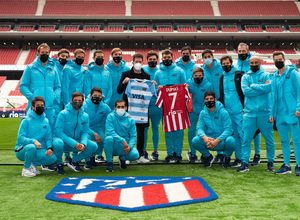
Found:
<path fill-rule="evenodd" d="M 81 171 L 82 160 L 86 170 L 96 162 L 106 162 L 106 170 L 112 172 L 113 156 L 119 156 L 121 168 L 127 167 L 127 160 L 148 163 L 149 122 L 151 158 L 158 160 L 162 118 L 165 162 L 182 160 L 183 129 L 189 127 L 190 162 L 197 160 L 196 151 L 200 151 L 205 167 L 217 161 L 225 168 L 237 167 L 238 172 L 249 170 L 252 139 L 252 165 L 260 163 L 260 133 L 266 141 L 267 170 L 274 171 L 276 120 L 284 164 L 275 173 L 291 173 L 291 132 L 295 174 L 300 175 L 300 76 L 293 66 L 285 65 L 282 52 L 273 54 L 278 69 L 273 74 L 263 70 L 262 60 L 253 56 L 245 43 L 238 46 L 236 65 L 231 56 L 219 61 L 211 50 L 204 50 L 202 67 L 195 64 L 188 46 L 181 49 L 175 62 L 172 51 L 164 50 L 159 67 L 155 51 L 148 52 L 145 66 L 143 55 L 133 55 L 132 68 L 122 60 L 120 48 L 112 50 L 107 65 L 103 51 L 96 50 L 86 67 L 82 49 L 75 50 L 74 59 L 69 59 L 66 49 L 59 51 L 58 59 L 49 54 L 50 47 L 41 44 L 38 57 L 26 67 L 20 83 L 20 91 L 28 99 L 15 148 L 17 158 L 25 161 L 23 176 L 39 174 L 38 165 L 63 174 L 63 154 L 67 166 L 76 172 Z M 180 106 L 179 97 L 184 105 Z M 192 102 L 187 117 L 186 102 Z M 142 110 L 145 103 L 146 111 Z M 217 151 L 215 158 L 211 150 Z M 230 163 L 233 152 L 235 160 Z"/>

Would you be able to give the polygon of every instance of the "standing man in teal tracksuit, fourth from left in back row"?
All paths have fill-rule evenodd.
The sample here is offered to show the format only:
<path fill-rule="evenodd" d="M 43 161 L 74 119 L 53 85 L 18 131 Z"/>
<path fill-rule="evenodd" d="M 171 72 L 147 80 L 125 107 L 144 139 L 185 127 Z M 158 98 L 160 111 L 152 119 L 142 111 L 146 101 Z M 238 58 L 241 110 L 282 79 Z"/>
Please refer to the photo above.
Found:
<path fill-rule="evenodd" d="M 96 50 L 93 55 L 94 62 L 91 62 L 88 66 L 88 71 L 85 74 L 84 79 L 84 94 L 87 97 L 91 89 L 94 87 L 101 88 L 103 100 L 106 104 L 109 104 L 112 96 L 112 78 L 103 64 L 104 53 L 102 50 Z"/>

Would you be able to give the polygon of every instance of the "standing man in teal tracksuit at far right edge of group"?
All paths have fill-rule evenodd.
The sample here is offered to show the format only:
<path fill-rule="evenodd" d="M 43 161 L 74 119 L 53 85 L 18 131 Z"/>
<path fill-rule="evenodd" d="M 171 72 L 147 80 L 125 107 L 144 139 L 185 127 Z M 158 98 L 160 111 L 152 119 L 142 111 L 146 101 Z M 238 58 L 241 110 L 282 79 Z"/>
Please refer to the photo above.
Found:
<path fill-rule="evenodd" d="M 276 174 L 291 173 L 290 166 L 290 140 L 292 134 L 294 154 L 296 159 L 295 175 L 300 175 L 300 75 L 294 66 L 285 65 L 282 52 L 274 52 L 273 60 L 278 69 L 272 80 L 273 117 L 281 140 L 283 165 Z"/>

